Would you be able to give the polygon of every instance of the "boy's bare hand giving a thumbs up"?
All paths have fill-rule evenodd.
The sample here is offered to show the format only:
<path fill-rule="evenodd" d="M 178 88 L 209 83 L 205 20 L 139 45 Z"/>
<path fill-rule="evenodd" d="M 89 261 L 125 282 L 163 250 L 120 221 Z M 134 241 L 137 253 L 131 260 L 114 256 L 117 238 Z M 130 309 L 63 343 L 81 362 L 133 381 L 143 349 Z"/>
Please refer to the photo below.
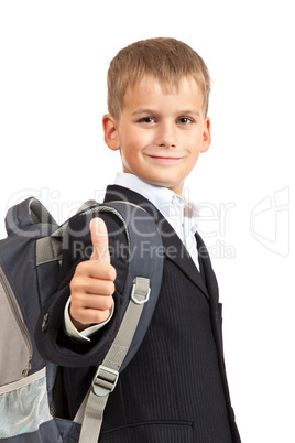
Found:
<path fill-rule="evenodd" d="M 113 304 L 116 269 L 110 264 L 107 226 L 95 217 L 89 227 L 92 255 L 77 266 L 69 284 L 69 314 L 79 332 L 108 320 Z"/>

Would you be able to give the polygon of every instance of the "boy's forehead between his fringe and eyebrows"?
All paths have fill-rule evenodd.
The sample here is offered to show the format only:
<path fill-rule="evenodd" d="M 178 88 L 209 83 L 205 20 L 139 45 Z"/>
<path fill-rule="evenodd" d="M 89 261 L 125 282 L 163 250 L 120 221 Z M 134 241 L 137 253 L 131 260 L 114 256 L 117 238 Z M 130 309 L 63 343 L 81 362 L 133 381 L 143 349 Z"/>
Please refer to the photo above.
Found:
<path fill-rule="evenodd" d="M 160 105 L 165 101 L 176 106 L 198 107 L 201 109 L 204 95 L 194 77 L 182 77 L 174 84 L 163 83 L 159 78 L 144 76 L 133 85 L 129 85 L 123 99 L 123 108 L 143 105 Z"/>

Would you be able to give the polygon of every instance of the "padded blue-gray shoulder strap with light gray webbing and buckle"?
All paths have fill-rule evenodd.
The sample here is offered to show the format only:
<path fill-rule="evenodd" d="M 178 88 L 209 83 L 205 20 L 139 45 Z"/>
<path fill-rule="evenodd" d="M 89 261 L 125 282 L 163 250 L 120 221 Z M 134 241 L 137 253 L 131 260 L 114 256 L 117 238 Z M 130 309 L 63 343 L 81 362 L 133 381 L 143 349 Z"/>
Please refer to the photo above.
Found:
<path fill-rule="evenodd" d="M 117 385 L 119 372 L 142 343 L 162 283 L 162 239 L 153 218 L 141 207 L 124 202 L 108 205 L 122 215 L 128 227 L 129 272 L 123 292 L 127 309 L 117 336 L 74 419 L 83 424 L 79 443 L 98 441 L 109 395 Z"/>

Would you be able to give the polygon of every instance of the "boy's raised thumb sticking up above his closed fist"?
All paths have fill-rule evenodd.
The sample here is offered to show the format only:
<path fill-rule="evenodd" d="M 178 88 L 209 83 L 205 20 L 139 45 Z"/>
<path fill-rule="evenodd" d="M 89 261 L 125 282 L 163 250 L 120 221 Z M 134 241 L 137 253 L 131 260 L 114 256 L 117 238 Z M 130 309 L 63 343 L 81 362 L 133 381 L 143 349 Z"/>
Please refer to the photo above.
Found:
<path fill-rule="evenodd" d="M 94 247 L 90 260 L 110 263 L 109 235 L 105 222 L 99 217 L 95 217 L 91 219 L 89 228 Z"/>

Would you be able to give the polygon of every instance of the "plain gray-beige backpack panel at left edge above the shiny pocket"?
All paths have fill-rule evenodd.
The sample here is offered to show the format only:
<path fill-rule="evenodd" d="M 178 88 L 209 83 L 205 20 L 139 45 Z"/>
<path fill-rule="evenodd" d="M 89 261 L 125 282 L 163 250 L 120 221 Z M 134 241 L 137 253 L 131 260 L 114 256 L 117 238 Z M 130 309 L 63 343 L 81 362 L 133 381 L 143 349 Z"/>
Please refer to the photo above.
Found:
<path fill-rule="evenodd" d="M 22 312 L 0 266 L 0 386 L 29 374 L 33 354 L 32 342 Z"/>

